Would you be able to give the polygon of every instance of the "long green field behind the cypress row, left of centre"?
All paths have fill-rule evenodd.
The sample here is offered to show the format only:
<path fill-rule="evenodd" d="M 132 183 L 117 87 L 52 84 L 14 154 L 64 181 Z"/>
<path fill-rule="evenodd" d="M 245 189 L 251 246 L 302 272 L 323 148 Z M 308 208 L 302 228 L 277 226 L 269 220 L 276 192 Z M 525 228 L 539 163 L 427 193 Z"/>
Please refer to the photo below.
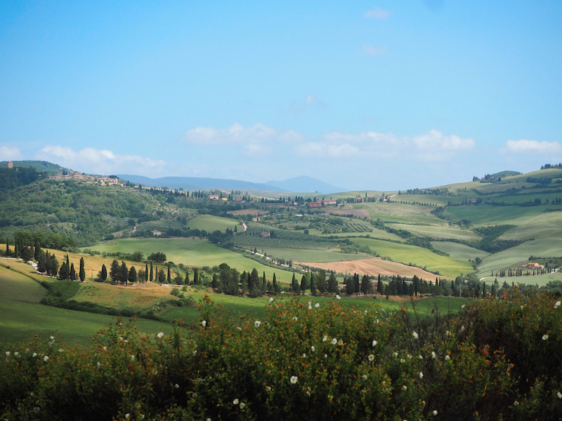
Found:
<path fill-rule="evenodd" d="M 277 280 L 289 282 L 293 276 L 292 272 L 261 265 L 259 262 L 244 258 L 240 253 L 215 246 L 207 240 L 183 238 L 119 239 L 102 242 L 98 246 L 91 247 L 91 249 L 100 252 L 105 251 L 106 253 L 132 253 L 138 250 L 143 252 L 145 256 L 159 251 L 166 255 L 169 262 L 174 262 L 176 265 L 183 263 L 183 265 L 190 267 L 214 267 L 226 263 L 230 267 L 235 267 L 239 272 L 251 272 L 251 269 L 255 267 L 259 274 L 266 272 L 268 279 L 273 279 L 275 273 Z"/>

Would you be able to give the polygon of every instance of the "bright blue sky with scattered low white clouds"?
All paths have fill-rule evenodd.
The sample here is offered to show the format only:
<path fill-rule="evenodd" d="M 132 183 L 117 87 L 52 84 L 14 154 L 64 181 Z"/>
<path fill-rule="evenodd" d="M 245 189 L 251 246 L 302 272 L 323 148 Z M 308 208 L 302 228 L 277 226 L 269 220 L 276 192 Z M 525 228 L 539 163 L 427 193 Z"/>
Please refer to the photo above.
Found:
<path fill-rule="evenodd" d="M 562 1 L 6 1 L 0 161 L 407 189 L 562 161 Z"/>

